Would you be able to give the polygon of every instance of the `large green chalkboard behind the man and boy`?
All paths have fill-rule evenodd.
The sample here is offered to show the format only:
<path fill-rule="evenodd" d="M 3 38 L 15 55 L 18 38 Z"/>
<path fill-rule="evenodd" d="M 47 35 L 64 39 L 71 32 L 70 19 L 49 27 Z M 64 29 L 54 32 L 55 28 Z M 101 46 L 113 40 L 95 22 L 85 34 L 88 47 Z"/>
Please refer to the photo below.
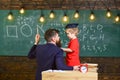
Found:
<path fill-rule="evenodd" d="M 95 21 L 89 20 L 90 10 L 80 10 L 80 18 L 74 19 L 75 10 L 67 10 L 69 21 L 64 23 L 63 10 L 55 10 L 55 19 L 49 18 L 50 10 L 43 10 L 45 22 L 40 23 L 40 10 L 26 10 L 19 14 L 13 10 L 14 19 L 7 20 L 9 10 L 0 10 L 0 56 L 27 56 L 34 44 L 37 27 L 41 35 L 40 44 L 45 43 L 44 32 L 48 28 L 60 30 L 63 47 L 67 46 L 68 38 L 64 32 L 67 23 L 79 23 L 80 56 L 83 57 L 120 57 L 120 23 L 114 22 L 116 11 L 112 17 L 106 18 L 105 10 L 95 10 Z M 118 11 L 120 12 L 120 11 Z"/>

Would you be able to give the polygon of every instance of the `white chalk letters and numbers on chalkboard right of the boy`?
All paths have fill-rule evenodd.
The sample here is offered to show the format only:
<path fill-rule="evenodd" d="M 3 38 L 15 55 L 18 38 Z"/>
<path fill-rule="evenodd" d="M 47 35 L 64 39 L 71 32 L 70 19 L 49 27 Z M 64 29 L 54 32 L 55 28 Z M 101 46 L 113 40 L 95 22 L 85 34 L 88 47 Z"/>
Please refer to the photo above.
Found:
<path fill-rule="evenodd" d="M 83 34 L 80 37 L 80 41 L 84 41 L 85 44 L 81 46 L 81 49 L 85 51 L 94 51 L 95 53 L 102 53 L 106 51 L 107 45 L 104 43 L 100 43 L 105 40 L 105 34 L 103 32 L 103 29 L 104 26 L 102 24 L 83 24 L 81 29 L 81 33 Z"/>

